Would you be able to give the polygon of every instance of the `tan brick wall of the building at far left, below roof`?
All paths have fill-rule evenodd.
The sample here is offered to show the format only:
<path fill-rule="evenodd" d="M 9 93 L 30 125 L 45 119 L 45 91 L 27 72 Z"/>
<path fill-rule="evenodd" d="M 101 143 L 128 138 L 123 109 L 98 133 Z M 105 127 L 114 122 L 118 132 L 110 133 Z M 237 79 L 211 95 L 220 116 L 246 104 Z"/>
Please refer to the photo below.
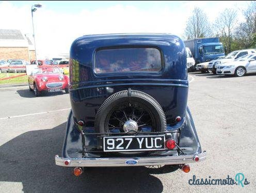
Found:
<path fill-rule="evenodd" d="M 31 55 L 33 56 L 33 51 Z M 0 47 L 0 59 L 23 59 L 29 61 L 28 47 Z"/>

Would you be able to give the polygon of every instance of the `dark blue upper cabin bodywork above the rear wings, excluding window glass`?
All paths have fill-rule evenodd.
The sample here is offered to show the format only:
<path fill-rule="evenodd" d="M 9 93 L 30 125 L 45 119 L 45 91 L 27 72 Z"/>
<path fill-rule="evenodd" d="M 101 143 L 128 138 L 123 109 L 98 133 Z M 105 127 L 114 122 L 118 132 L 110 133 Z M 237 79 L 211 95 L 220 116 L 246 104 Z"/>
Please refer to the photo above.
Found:
<path fill-rule="evenodd" d="M 162 54 L 161 72 L 96 75 L 95 52 L 102 48 L 156 47 Z M 167 124 L 185 116 L 188 94 L 183 41 L 170 34 L 105 34 L 76 39 L 70 49 L 70 96 L 74 117 L 93 126 L 94 116 L 111 94 L 129 88 L 154 97 L 166 113 Z"/>

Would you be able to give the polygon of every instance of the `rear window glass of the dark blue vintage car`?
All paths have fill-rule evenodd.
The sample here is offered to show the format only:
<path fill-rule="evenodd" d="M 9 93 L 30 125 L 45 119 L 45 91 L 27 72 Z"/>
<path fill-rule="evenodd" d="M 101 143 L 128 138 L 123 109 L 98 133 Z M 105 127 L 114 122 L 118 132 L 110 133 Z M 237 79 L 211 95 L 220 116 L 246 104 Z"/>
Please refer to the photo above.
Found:
<path fill-rule="evenodd" d="M 96 74 L 159 72 L 161 69 L 161 53 L 157 48 L 101 49 L 95 54 Z"/>

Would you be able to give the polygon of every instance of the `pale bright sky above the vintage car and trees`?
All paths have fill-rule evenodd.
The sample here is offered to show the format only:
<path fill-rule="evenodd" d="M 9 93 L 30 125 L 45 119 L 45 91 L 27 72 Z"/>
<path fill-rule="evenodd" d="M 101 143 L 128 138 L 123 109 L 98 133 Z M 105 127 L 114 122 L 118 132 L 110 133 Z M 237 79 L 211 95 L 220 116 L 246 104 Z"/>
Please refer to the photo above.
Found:
<path fill-rule="evenodd" d="M 210 22 L 225 8 L 242 10 L 249 1 L 0 1 L 0 28 L 19 29 L 33 35 L 34 12 L 37 55 L 57 57 L 69 53 L 72 42 L 86 34 L 172 33 L 182 38 L 186 21 L 195 7 Z"/>

